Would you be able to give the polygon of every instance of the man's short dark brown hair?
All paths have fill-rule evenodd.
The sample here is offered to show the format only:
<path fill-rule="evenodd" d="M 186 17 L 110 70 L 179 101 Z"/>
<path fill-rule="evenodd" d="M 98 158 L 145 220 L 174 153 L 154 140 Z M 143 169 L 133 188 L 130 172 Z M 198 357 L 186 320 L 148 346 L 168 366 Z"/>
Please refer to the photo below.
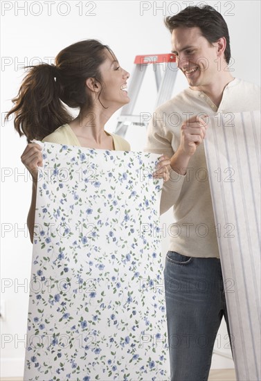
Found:
<path fill-rule="evenodd" d="M 210 44 L 217 42 L 221 37 L 226 38 L 226 50 L 224 51 L 226 63 L 231 59 L 230 39 L 226 21 L 215 8 L 211 6 L 188 6 L 177 15 L 165 18 L 165 26 L 170 30 L 175 28 L 193 28 L 197 26 L 201 34 Z"/>

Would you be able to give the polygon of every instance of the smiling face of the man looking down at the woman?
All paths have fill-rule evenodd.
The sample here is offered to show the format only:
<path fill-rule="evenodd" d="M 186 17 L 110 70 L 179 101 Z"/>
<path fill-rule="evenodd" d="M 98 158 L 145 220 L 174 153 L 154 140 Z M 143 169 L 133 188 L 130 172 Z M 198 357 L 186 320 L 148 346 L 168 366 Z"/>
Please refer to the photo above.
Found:
<path fill-rule="evenodd" d="M 198 27 L 172 31 L 172 53 L 192 87 L 211 86 L 219 68 L 217 43 L 210 45 Z"/>

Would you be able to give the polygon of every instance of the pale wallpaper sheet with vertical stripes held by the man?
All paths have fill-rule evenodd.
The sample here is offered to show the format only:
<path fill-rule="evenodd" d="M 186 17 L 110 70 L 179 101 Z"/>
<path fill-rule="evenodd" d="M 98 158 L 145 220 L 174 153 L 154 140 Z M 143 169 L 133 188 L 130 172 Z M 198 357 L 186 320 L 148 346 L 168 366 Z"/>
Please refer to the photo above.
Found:
<path fill-rule="evenodd" d="M 260 112 L 217 114 L 204 141 L 237 380 L 260 373 Z"/>

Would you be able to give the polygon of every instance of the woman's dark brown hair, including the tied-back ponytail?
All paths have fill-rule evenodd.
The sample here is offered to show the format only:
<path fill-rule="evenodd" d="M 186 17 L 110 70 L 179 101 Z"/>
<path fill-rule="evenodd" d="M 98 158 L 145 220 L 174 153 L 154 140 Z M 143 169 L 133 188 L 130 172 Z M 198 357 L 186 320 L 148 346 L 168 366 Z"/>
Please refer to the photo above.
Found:
<path fill-rule="evenodd" d="M 96 78 L 102 84 L 100 64 L 105 61 L 109 46 L 96 39 L 76 42 L 64 48 L 55 57 L 55 65 L 38 64 L 26 74 L 15 103 L 6 115 L 15 114 L 15 130 L 27 140 L 42 140 L 60 125 L 72 121 L 66 109 L 91 107 L 92 98 L 87 91 L 87 78 Z M 100 94 L 99 94 L 100 96 Z M 65 105 L 64 105 L 65 103 Z"/>

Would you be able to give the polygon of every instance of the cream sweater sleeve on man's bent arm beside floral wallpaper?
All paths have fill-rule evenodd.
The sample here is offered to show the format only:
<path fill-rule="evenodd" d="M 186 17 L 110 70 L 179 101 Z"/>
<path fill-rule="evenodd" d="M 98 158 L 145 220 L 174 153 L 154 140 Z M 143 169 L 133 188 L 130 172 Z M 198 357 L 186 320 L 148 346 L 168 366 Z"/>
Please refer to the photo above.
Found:
<path fill-rule="evenodd" d="M 172 157 L 174 149 L 172 148 L 171 141 L 174 139 L 174 135 L 169 134 L 169 136 L 166 136 L 163 129 L 163 125 L 165 125 L 165 114 L 166 113 L 161 112 L 160 109 L 157 109 L 156 112 L 154 112 L 147 127 L 147 143 L 144 152 L 164 154 L 168 157 Z M 179 175 L 179 173 L 170 169 L 170 179 L 163 183 L 160 206 L 161 214 L 177 204 L 185 178 L 186 175 Z"/>

